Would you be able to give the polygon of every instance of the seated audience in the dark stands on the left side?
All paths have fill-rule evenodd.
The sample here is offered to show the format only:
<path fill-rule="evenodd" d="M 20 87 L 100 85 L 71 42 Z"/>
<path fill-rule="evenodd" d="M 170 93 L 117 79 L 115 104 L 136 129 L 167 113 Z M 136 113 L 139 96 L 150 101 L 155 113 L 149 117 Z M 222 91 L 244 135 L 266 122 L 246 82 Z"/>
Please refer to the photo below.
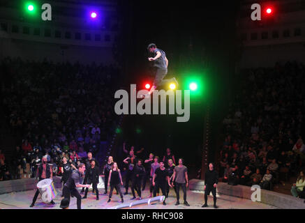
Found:
<path fill-rule="evenodd" d="M 34 177 L 43 155 L 54 170 L 62 157 L 77 165 L 89 151 L 96 155 L 113 134 L 119 69 L 6 58 L 1 72 L 7 77 L 1 89 L 6 124 L 20 141 L 9 160 L 0 151 L 0 180 L 20 178 L 18 167 L 26 171 L 27 163 L 27 174 Z"/>

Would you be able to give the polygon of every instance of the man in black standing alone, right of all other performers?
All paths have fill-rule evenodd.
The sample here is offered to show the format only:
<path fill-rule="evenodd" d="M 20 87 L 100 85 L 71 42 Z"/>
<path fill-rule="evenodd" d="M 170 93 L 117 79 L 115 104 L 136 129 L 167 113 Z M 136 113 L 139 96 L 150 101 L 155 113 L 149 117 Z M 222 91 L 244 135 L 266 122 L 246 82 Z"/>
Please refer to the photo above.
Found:
<path fill-rule="evenodd" d="M 209 169 L 205 172 L 204 177 L 204 205 L 202 208 L 207 207 L 207 195 L 211 192 L 213 194 L 214 200 L 214 208 L 218 208 L 216 206 L 216 187 L 218 183 L 218 173 L 214 169 L 214 164 L 209 163 Z"/>

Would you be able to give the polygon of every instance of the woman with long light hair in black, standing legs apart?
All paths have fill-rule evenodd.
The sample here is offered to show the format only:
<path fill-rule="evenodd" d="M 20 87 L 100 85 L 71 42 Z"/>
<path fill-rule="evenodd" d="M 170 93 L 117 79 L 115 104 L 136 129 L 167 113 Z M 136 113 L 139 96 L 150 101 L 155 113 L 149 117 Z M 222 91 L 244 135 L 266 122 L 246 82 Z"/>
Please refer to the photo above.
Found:
<path fill-rule="evenodd" d="M 114 162 L 112 165 L 112 168 L 109 173 L 109 178 L 108 178 L 108 186 L 110 186 L 110 193 L 109 193 L 109 199 L 107 202 L 111 201 L 112 197 L 112 191 L 115 188 L 117 192 L 119 192 L 119 195 L 121 197 L 121 203 L 124 202 L 123 199 L 123 193 L 121 192 L 121 185 L 123 185 L 123 180 L 121 178 L 121 171 L 117 167 L 117 162 Z"/>

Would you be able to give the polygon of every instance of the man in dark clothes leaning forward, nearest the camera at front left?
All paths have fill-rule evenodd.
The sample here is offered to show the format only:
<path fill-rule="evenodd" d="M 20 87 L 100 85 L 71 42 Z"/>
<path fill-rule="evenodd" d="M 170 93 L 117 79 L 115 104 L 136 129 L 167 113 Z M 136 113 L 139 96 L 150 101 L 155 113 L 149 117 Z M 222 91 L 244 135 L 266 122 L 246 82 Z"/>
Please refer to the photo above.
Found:
<path fill-rule="evenodd" d="M 70 203 L 70 195 L 76 197 L 77 199 L 77 209 L 81 209 L 82 205 L 82 197 L 80 193 L 77 191 L 76 187 L 87 187 L 89 188 L 90 185 L 82 185 L 82 181 L 84 178 L 84 171 L 86 170 L 86 166 L 83 163 L 78 165 L 78 169 L 74 170 L 71 176 L 68 178 L 67 182 L 64 185 L 63 193 L 64 199 L 68 199 Z"/>

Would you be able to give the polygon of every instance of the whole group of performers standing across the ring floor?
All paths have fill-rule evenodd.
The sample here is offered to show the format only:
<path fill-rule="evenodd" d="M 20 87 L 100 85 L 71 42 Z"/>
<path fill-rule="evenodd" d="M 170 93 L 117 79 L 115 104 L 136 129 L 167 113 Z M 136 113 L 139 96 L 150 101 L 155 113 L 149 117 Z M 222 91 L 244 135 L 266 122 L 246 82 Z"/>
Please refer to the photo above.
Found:
<path fill-rule="evenodd" d="M 188 187 L 188 169 L 184 166 L 184 160 L 179 158 L 178 165 L 174 164 L 174 156 L 171 154 L 170 149 L 167 150 L 167 155 L 163 157 L 163 160 L 159 161 L 158 156 L 150 153 L 149 158 L 143 161 L 137 159 L 135 156 L 135 151 L 132 148 L 129 151 L 128 157 L 124 159 L 126 164 L 126 180 L 125 180 L 125 193 L 128 194 L 128 187 L 131 181 L 131 193 L 133 197 L 131 200 L 136 199 L 135 192 L 139 199 L 142 199 L 142 190 L 144 190 L 147 183 L 147 178 L 149 178 L 149 197 L 156 197 L 159 195 L 159 190 L 161 190 L 165 199 L 163 205 L 166 205 L 165 200 L 168 198 L 170 192 L 170 187 L 174 188 L 174 192 L 177 197 L 175 205 L 179 205 L 179 190 L 184 193 L 184 205 L 190 206 L 186 201 L 186 191 Z M 45 178 L 52 178 L 52 167 L 47 164 L 47 158 L 43 157 L 43 162 L 38 166 L 38 177 L 39 180 Z M 167 162 L 165 162 L 167 161 Z M 98 183 L 99 183 L 99 167 L 98 162 L 92 157 L 92 154 L 88 154 L 85 163 L 80 163 L 75 167 L 73 164 L 67 162 L 66 157 L 62 159 L 63 166 L 62 172 L 63 176 L 61 182 L 63 183 L 63 193 L 62 197 L 64 199 L 61 203 L 70 203 L 70 197 L 75 197 L 77 199 L 77 208 L 81 208 L 81 200 L 87 199 L 87 194 L 90 185 L 92 184 L 93 192 L 96 192 L 96 200 L 98 200 Z M 117 194 L 121 197 L 121 202 L 124 202 L 124 195 L 121 192 L 121 186 L 124 185 L 121 170 L 119 169 L 117 162 L 114 162 L 113 157 L 108 157 L 107 163 L 103 168 L 103 174 L 105 175 L 105 192 L 107 194 L 108 188 L 110 188 L 109 199 L 112 199 L 112 192 L 115 189 Z M 218 174 L 214 170 L 214 164 L 209 164 L 209 169 L 205 174 L 204 180 L 204 205 L 202 208 L 207 207 L 207 195 L 210 192 L 214 197 L 214 208 L 216 206 L 216 187 L 218 183 Z M 84 197 L 80 196 L 77 187 L 82 187 L 84 191 Z M 141 189 L 142 187 L 142 189 Z M 34 206 L 35 201 L 38 197 L 39 190 L 36 191 L 34 199 L 31 203 L 31 207 Z M 54 204 L 54 201 L 51 201 Z"/>

